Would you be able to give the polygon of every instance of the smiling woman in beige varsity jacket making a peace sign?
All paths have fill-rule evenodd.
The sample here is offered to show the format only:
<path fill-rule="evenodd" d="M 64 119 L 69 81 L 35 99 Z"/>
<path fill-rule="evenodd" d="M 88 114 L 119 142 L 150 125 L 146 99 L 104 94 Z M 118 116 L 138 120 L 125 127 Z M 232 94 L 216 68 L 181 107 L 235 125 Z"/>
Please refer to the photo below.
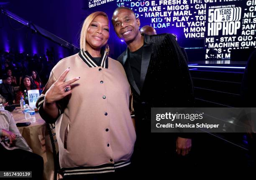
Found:
<path fill-rule="evenodd" d="M 64 178 L 116 177 L 130 164 L 136 140 L 131 88 L 123 66 L 102 48 L 108 31 L 105 13 L 89 15 L 80 52 L 56 64 L 37 101 L 41 117 L 56 123 Z"/>

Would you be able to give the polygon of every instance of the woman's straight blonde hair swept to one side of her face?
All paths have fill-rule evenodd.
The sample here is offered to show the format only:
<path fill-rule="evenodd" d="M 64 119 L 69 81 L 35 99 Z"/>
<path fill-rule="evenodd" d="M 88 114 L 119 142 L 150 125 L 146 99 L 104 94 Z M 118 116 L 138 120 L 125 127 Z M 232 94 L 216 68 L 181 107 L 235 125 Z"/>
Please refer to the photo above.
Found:
<path fill-rule="evenodd" d="M 85 44 L 86 44 L 86 33 L 87 30 L 90 26 L 90 24 L 92 23 L 92 21 L 99 15 L 103 15 L 108 19 L 108 15 L 104 12 L 101 11 L 97 11 L 95 13 L 92 13 L 90 15 L 87 16 L 87 18 L 84 20 L 83 26 L 82 26 L 82 30 L 81 30 L 81 34 L 80 34 L 80 49 L 86 50 Z"/>

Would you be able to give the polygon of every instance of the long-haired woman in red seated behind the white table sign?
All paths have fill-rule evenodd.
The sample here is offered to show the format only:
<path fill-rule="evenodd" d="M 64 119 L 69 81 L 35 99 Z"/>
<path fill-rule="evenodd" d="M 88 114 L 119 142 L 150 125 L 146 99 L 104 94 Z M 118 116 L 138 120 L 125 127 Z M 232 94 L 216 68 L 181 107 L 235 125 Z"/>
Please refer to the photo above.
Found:
<path fill-rule="evenodd" d="M 32 80 L 31 77 L 28 75 L 23 76 L 21 78 L 21 83 L 20 83 L 20 90 L 16 94 L 16 103 L 20 103 L 20 97 L 24 97 L 24 90 L 28 92 L 28 90 L 34 90 L 36 89 L 36 85 L 34 81 Z"/>

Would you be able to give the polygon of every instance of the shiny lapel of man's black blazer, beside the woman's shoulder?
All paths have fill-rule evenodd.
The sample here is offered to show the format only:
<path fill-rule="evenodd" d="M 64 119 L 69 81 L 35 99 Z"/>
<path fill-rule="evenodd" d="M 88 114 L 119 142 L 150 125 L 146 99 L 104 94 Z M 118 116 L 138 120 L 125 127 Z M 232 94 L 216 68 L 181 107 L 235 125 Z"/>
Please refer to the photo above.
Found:
<path fill-rule="evenodd" d="M 130 65 L 130 60 L 128 59 L 128 48 L 125 50 L 124 55 L 123 55 L 123 67 L 125 69 L 128 81 L 130 85 L 133 87 L 134 90 L 138 93 L 138 95 L 141 94 L 140 90 L 138 89 L 138 86 L 136 85 L 133 77 L 133 73 L 131 71 L 131 65 Z"/>

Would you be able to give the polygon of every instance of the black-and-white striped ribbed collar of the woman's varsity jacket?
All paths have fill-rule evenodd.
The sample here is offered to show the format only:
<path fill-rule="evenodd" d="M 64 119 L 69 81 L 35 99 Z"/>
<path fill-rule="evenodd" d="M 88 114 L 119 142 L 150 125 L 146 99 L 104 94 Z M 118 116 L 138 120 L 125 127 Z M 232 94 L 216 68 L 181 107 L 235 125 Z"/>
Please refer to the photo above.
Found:
<path fill-rule="evenodd" d="M 101 50 L 101 57 L 100 61 L 97 62 L 94 60 L 94 58 L 89 54 L 88 51 L 80 50 L 79 51 L 79 57 L 89 66 L 89 67 L 103 67 L 108 69 L 108 56 L 105 52 L 104 48 Z"/>

